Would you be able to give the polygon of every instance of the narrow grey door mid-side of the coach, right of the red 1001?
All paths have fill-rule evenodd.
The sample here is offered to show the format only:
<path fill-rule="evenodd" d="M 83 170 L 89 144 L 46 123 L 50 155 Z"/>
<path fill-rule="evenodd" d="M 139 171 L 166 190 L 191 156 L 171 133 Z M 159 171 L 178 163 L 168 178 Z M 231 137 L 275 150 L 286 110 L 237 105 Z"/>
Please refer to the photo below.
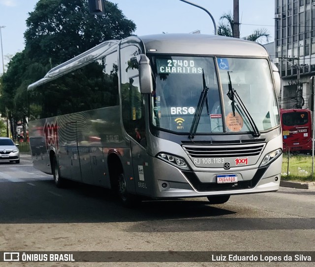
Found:
<path fill-rule="evenodd" d="M 67 154 L 71 169 L 71 180 L 81 181 L 80 153 L 78 148 L 77 123 L 66 123 Z"/>

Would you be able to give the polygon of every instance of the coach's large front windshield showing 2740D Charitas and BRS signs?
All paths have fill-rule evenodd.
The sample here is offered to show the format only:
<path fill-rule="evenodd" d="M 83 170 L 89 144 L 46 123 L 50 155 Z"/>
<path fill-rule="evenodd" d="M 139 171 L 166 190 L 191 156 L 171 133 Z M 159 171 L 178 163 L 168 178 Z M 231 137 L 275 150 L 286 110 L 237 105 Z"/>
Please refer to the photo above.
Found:
<path fill-rule="evenodd" d="M 259 132 L 280 123 L 271 72 L 265 59 L 161 56 L 153 58 L 153 62 L 156 90 L 152 94 L 152 123 L 162 130 L 189 133 L 204 89 L 203 72 L 209 90 L 196 134 L 223 133 L 222 116 L 227 133 L 252 132 L 248 117 L 237 101 L 234 103 L 235 114 L 232 112 L 232 101 L 227 96 L 228 72 L 233 89 L 244 102 Z"/>

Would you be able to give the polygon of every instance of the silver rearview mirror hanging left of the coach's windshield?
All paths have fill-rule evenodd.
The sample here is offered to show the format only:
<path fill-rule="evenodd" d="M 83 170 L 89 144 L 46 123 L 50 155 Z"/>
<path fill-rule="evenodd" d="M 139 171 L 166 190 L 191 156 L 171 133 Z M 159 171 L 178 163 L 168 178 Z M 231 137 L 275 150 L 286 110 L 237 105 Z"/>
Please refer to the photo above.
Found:
<path fill-rule="evenodd" d="M 139 64 L 139 82 L 141 94 L 151 94 L 153 91 L 152 69 L 150 60 L 144 54 L 136 56 Z"/>

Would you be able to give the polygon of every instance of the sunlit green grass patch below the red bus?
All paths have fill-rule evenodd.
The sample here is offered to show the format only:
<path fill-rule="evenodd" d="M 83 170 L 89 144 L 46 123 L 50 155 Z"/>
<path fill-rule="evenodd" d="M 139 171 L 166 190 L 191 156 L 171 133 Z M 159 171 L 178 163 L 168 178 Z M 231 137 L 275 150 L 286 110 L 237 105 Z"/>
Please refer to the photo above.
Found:
<path fill-rule="evenodd" d="M 287 168 L 287 156 L 287 153 L 284 153 L 281 173 L 282 180 L 297 182 L 314 181 L 314 179 L 312 179 L 312 156 L 290 154 L 289 168 Z"/>

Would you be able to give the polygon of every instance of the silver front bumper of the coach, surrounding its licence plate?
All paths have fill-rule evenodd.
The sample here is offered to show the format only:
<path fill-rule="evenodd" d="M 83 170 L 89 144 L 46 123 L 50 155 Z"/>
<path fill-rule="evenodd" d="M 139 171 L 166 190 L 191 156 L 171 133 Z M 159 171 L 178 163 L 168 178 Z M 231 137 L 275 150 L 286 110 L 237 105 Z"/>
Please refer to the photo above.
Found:
<path fill-rule="evenodd" d="M 262 168 L 226 171 L 223 169 L 209 172 L 181 171 L 158 159 L 159 175 L 156 179 L 154 198 L 192 198 L 214 195 L 239 195 L 279 190 L 282 155 L 270 165 Z M 218 184 L 218 174 L 238 173 L 237 183 Z M 164 183 L 164 188 L 162 184 Z M 167 187 L 165 188 L 165 183 Z"/>

